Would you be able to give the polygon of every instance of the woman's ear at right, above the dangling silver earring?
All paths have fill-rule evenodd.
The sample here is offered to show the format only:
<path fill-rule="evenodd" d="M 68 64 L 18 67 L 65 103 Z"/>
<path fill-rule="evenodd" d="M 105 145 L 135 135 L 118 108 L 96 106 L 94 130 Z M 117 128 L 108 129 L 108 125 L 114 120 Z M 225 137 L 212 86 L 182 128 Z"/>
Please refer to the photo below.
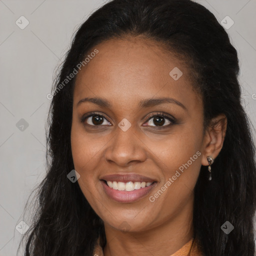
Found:
<path fill-rule="evenodd" d="M 211 119 L 209 125 L 207 126 L 203 138 L 202 144 L 202 165 L 209 165 L 207 161 L 207 156 L 213 157 L 215 159 L 219 154 L 225 134 L 226 134 L 227 118 L 225 114 L 219 114 L 218 116 Z"/>

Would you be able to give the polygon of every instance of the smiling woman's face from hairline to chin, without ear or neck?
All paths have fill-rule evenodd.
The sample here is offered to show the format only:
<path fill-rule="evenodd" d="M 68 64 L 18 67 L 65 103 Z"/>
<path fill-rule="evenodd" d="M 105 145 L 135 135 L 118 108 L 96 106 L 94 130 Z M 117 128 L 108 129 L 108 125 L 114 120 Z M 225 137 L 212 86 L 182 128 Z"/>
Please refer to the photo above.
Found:
<path fill-rule="evenodd" d="M 95 48 L 73 96 L 71 149 L 84 196 L 105 225 L 120 230 L 143 231 L 192 213 L 203 107 L 188 70 L 145 39 Z"/>

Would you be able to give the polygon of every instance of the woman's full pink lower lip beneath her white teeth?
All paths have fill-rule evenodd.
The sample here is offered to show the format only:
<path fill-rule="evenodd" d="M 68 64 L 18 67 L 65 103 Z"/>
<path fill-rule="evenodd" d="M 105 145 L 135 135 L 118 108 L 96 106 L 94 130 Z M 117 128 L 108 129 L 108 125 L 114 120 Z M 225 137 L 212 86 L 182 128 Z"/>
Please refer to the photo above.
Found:
<path fill-rule="evenodd" d="M 114 199 L 117 202 L 134 202 L 142 197 L 144 197 L 146 194 L 149 193 L 149 191 L 156 185 L 156 182 L 152 183 L 150 186 L 145 186 L 139 189 L 134 189 L 132 191 L 126 191 L 126 190 L 117 190 L 109 187 L 103 180 L 100 180 L 101 184 L 103 186 L 103 190 L 105 193 Z"/>

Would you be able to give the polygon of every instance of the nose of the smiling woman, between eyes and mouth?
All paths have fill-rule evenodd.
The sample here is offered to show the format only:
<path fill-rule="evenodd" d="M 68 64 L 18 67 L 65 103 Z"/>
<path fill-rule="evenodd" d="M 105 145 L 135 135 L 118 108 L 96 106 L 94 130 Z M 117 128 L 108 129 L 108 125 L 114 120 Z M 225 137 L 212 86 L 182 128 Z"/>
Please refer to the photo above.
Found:
<path fill-rule="evenodd" d="M 105 160 L 119 166 L 128 166 L 132 162 L 143 162 L 146 158 L 146 145 L 134 133 L 132 126 L 126 131 L 116 127 L 114 137 L 105 150 Z"/>

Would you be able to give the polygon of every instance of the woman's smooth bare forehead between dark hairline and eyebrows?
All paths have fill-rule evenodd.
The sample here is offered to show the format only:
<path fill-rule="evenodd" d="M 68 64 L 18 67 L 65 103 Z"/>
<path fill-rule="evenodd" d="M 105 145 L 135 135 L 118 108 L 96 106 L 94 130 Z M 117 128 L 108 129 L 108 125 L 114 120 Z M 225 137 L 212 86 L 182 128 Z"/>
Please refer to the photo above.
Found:
<path fill-rule="evenodd" d="M 98 53 L 77 74 L 74 103 L 85 96 L 127 105 L 154 96 L 196 100 L 184 62 L 154 41 L 110 39 L 95 48 Z"/>

